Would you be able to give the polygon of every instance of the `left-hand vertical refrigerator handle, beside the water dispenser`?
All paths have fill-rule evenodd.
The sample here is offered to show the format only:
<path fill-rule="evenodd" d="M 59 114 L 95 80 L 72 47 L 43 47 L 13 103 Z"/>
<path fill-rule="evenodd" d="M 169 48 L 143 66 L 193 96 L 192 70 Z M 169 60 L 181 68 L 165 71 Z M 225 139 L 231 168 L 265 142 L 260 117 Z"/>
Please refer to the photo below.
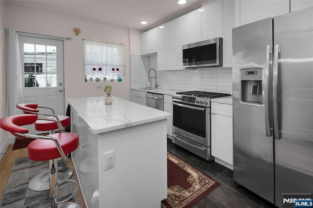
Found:
<path fill-rule="evenodd" d="M 270 116 L 270 96 L 269 96 L 269 81 L 270 81 L 270 54 L 271 49 L 270 45 L 265 47 L 265 67 L 264 67 L 264 93 L 263 93 L 263 100 L 264 100 L 264 108 L 265 108 L 265 127 L 266 127 L 266 136 L 270 137 L 273 134 L 273 124 L 272 119 Z"/>

